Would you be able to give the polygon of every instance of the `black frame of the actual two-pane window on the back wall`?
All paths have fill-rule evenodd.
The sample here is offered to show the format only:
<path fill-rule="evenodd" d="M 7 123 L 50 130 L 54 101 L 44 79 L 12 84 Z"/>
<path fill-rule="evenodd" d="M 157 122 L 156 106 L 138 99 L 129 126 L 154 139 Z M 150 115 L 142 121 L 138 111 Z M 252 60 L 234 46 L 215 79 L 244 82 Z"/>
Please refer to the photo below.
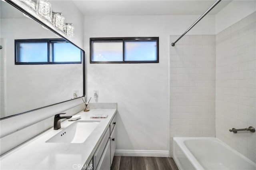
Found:
<path fill-rule="evenodd" d="M 138 42 L 148 42 L 156 41 L 156 57 L 155 61 L 125 61 L 125 43 L 126 41 L 138 41 Z M 92 61 L 93 56 L 93 42 L 122 42 L 123 43 L 123 61 Z M 118 37 L 118 38 L 90 38 L 90 63 L 159 63 L 159 37 Z"/>

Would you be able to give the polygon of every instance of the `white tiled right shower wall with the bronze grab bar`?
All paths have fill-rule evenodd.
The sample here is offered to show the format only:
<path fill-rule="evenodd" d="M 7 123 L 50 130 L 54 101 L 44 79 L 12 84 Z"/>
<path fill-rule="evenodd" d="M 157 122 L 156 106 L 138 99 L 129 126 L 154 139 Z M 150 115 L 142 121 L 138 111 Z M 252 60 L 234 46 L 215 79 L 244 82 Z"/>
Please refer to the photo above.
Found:
<path fill-rule="evenodd" d="M 216 137 L 256 162 L 256 13 L 216 35 Z"/>

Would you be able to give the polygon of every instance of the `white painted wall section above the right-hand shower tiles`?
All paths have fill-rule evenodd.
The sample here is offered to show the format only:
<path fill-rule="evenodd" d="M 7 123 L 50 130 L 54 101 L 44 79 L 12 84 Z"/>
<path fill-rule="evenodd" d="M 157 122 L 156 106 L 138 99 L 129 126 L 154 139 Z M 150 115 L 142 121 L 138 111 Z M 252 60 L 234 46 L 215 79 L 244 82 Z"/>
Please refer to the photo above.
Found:
<path fill-rule="evenodd" d="M 221 2 L 220 2 L 221 3 Z M 230 27 L 256 10 L 255 0 L 233 0 L 224 7 L 216 17 L 216 34 Z"/>

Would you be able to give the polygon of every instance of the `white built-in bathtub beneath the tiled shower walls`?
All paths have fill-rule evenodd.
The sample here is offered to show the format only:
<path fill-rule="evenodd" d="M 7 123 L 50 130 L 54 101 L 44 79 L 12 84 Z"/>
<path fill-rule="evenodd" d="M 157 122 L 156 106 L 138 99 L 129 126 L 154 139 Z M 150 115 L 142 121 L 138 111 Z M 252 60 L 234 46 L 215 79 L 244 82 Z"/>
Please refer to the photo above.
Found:
<path fill-rule="evenodd" d="M 256 170 L 256 164 L 217 138 L 173 138 L 179 170 Z"/>

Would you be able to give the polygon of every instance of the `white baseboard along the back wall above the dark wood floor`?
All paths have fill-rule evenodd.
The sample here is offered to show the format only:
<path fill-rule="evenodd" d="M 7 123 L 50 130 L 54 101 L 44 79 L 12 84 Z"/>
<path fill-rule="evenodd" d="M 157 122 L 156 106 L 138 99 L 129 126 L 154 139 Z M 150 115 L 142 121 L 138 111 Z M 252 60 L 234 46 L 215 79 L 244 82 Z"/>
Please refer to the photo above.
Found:
<path fill-rule="evenodd" d="M 115 156 L 151 156 L 151 157 L 169 157 L 168 150 L 122 150 L 115 151 Z"/>

